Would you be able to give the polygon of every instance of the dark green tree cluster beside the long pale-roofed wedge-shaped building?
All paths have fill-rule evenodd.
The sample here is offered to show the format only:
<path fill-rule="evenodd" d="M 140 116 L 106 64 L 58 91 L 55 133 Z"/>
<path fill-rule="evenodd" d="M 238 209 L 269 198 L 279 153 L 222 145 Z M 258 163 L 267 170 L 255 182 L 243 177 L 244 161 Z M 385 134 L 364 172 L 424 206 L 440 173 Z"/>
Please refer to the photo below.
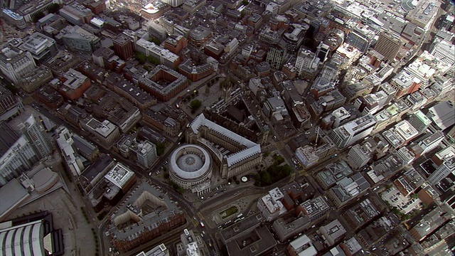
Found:
<path fill-rule="evenodd" d="M 291 174 L 291 166 L 288 164 L 281 165 L 284 163 L 283 156 L 274 155 L 273 159 L 274 163 L 267 170 L 259 171 L 255 175 L 255 186 L 269 186 Z"/>

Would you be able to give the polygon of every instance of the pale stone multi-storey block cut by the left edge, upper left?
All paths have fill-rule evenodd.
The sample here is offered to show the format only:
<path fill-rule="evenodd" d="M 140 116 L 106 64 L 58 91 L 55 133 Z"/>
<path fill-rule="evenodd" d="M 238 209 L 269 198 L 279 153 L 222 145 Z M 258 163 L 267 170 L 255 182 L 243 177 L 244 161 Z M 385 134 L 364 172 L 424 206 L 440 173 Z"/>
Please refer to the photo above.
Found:
<path fill-rule="evenodd" d="M 15 47 L 5 47 L 0 53 L 0 70 L 14 84 L 36 69 L 30 52 Z"/>

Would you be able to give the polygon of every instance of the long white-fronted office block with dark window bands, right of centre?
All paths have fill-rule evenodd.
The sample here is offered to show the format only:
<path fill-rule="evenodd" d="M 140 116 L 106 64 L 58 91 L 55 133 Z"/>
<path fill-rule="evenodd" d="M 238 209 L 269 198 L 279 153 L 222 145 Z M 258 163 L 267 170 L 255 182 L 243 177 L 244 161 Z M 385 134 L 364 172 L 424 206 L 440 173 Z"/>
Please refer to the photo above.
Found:
<path fill-rule="evenodd" d="M 338 148 L 343 148 L 367 137 L 373 131 L 375 124 L 375 117 L 368 114 L 333 129 L 329 136 Z"/>

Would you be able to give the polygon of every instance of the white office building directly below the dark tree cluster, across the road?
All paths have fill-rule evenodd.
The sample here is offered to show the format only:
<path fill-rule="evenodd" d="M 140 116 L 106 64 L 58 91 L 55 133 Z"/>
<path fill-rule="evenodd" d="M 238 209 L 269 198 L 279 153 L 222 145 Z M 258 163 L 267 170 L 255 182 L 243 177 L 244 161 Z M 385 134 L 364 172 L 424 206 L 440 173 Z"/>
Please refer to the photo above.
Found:
<path fill-rule="evenodd" d="M 272 221 L 286 213 L 286 208 L 284 208 L 282 199 L 284 195 L 279 188 L 273 188 L 267 195 L 262 196 L 257 201 L 257 209 L 262 214 L 262 217 L 266 221 Z"/>

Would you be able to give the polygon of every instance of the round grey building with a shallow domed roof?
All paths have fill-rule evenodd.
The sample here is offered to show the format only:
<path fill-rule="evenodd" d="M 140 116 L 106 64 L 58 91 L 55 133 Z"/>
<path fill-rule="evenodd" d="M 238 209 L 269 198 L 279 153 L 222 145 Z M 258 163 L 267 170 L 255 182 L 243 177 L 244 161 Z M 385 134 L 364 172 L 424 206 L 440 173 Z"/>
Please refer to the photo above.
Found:
<path fill-rule="evenodd" d="M 179 146 L 169 159 L 171 181 L 191 189 L 212 176 L 212 159 L 208 151 L 195 144 Z"/>

